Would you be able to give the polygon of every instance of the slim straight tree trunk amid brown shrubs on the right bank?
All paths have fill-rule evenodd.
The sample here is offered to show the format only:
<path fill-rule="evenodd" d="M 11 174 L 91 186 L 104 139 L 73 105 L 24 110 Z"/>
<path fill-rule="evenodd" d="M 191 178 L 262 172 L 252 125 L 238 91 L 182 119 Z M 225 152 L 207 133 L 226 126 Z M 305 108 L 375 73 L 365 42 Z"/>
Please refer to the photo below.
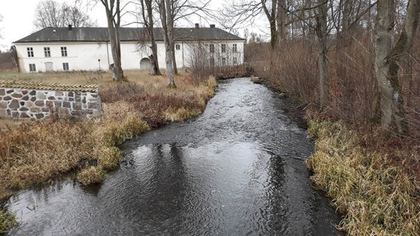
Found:
<path fill-rule="evenodd" d="M 325 0 L 318 0 L 318 16 L 316 17 L 316 31 L 319 44 L 319 58 L 318 58 L 318 71 L 319 71 L 319 103 L 321 108 L 324 108 L 328 103 L 328 95 L 330 92 L 330 83 L 328 80 L 327 70 L 327 10 L 328 6 Z"/>

